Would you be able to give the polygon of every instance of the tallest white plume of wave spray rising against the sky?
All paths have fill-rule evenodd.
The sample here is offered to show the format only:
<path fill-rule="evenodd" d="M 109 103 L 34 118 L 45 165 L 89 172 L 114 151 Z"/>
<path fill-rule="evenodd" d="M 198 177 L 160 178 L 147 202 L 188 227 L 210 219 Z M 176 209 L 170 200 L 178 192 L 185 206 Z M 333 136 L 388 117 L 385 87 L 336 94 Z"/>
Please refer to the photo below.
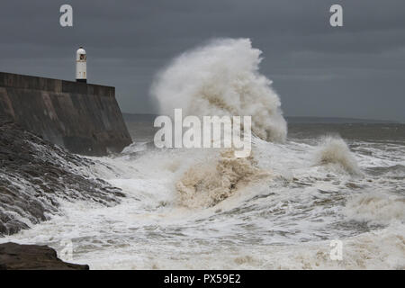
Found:
<path fill-rule="evenodd" d="M 284 141 L 280 99 L 258 72 L 261 53 L 248 39 L 212 40 L 175 58 L 158 74 L 151 94 L 162 114 L 182 108 L 184 116 L 252 116 L 257 137 Z"/>

